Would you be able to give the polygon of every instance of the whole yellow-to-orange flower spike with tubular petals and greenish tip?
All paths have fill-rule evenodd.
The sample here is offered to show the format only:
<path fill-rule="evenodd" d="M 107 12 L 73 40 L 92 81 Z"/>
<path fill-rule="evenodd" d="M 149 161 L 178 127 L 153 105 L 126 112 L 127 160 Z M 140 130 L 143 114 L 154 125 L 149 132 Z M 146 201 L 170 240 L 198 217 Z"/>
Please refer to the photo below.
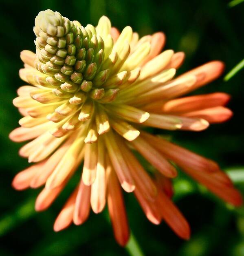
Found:
<path fill-rule="evenodd" d="M 54 230 L 86 221 L 90 206 L 106 201 L 117 242 L 130 236 L 121 187 L 133 192 L 145 215 L 188 239 L 189 224 L 171 201 L 175 165 L 233 205 L 242 196 L 217 163 L 143 128 L 200 131 L 232 115 L 225 93 L 181 97 L 218 78 L 224 64 L 212 61 L 177 78 L 184 53 L 166 50 L 162 32 L 139 39 L 130 26 L 121 33 L 103 16 L 97 27 L 70 22 L 58 12 L 35 19 L 36 53 L 22 51 L 13 104 L 24 116 L 10 138 L 31 140 L 20 155 L 34 164 L 13 179 L 17 190 L 45 184 L 35 209 L 48 208 L 79 168 L 81 181 L 57 216 Z M 147 172 L 138 151 L 154 167 Z M 80 168 L 81 163 L 83 167 Z"/>

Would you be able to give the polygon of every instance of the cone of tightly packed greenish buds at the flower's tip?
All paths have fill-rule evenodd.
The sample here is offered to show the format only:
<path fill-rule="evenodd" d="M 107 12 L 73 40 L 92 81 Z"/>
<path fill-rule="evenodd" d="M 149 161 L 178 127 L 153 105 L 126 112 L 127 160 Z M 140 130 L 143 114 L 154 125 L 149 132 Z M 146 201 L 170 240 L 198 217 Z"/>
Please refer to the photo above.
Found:
<path fill-rule="evenodd" d="M 41 11 L 35 19 L 34 65 L 44 75 L 33 77 L 34 81 L 52 88 L 50 92 L 58 98 L 69 98 L 69 104 L 82 104 L 87 97 L 99 102 L 114 100 L 119 91 L 116 88 L 123 77 L 110 77 L 118 54 L 112 52 L 108 18 L 102 17 L 99 22 L 97 30 L 90 24 L 83 27 L 78 21 L 72 22 L 58 12 Z M 102 23 L 104 26 L 101 26 Z M 103 39 L 108 46 L 105 47 Z M 106 91 L 102 86 L 107 88 Z M 40 101 L 51 101 L 50 94 L 35 97 Z"/>

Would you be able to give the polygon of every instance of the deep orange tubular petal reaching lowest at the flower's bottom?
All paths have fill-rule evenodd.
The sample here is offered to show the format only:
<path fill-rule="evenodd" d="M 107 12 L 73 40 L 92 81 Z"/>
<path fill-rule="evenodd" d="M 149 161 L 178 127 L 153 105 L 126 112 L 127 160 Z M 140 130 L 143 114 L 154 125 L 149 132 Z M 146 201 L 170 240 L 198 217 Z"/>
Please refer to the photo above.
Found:
<path fill-rule="evenodd" d="M 112 222 L 114 237 L 121 246 L 125 246 L 130 237 L 125 204 L 119 181 L 114 170 L 110 168 L 108 177 L 108 212 Z"/>

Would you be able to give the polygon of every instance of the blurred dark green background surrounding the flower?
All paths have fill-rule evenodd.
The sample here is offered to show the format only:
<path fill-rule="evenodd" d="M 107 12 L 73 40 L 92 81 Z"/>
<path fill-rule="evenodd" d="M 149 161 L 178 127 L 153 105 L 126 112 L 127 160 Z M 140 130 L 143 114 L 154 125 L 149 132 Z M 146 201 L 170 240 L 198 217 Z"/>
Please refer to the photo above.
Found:
<path fill-rule="evenodd" d="M 34 200 L 40 190 L 17 192 L 13 176 L 28 166 L 18 156 L 20 144 L 9 140 L 20 114 L 13 107 L 16 89 L 24 84 L 18 77 L 20 51 L 35 51 L 34 19 L 45 9 L 59 11 L 81 24 L 97 24 L 108 15 L 112 25 L 132 26 L 143 36 L 155 31 L 167 35 L 165 49 L 184 51 L 185 64 L 178 73 L 209 60 L 226 63 L 225 74 L 244 57 L 244 3 L 230 8 L 225 0 L 82 0 L 0 1 L 0 255 L 129 255 L 129 249 L 114 241 L 108 213 L 91 214 L 82 226 L 72 225 L 53 232 L 53 221 L 67 198 L 64 190 L 46 212 L 35 213 Z M 200 133 L 162 132 L 178 144 L 214 159 L 229 170 L 244 192 L 244 75 L 243 70 L 228 82 L 223 77 L 194 93 L 223 91 L 232 95 L 233 118 Z M 77 180 L 79 174 L 77 174 Z M 73 182 L 76 182 L 74 179 Z M 144 255 L 244 255 L 244 208 L 226 205 L 184 175 L 175 181 L 175 202 L 192 228 L 190 241 L 180 240 L 162 223 L 155 226 L 145 218 L 133 195 L 125 195 L 130 226 Z M 134 255 L 136 255 L 134 253 Z M 139 254 L 137 254 L 139 255 Z"/>

